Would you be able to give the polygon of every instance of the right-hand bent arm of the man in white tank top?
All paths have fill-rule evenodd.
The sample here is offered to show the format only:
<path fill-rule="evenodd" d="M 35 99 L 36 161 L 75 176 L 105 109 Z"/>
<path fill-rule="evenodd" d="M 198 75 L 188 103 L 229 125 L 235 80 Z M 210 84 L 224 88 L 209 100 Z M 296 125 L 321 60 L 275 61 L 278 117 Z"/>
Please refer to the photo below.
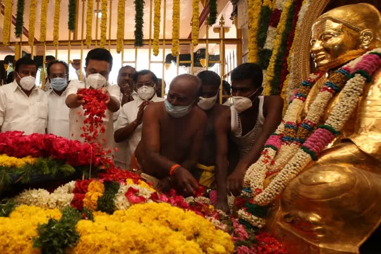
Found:
<path fill-rule="evenodd" d="M 242 191 L 246 170 L 259 158 L 268 136 L 276 130 L 282 120 L 282 97 L 268 96 L 264 98 L 263 115 L 265 121 L 262 126 L 262 133 L 255 139 L 252 149 L 238 162 L 228 178 L 228 189 L 234 195 L 239 195 Z"/>

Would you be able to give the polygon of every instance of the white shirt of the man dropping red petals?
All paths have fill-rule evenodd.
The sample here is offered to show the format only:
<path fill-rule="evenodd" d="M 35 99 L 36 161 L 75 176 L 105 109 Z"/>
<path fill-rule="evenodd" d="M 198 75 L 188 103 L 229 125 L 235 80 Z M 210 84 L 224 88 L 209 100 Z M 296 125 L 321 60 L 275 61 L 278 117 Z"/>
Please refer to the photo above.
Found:
<path fill-rule="evenodd" d="M 66 88 L 66 98 L 70 94 L 76 94 L 78 88 L 89 88 L 85 85 L 84 81 L 79 80 L 71 80 L 68 87 Z M 120 102 L 120 90 L 117 85 L 106 85 L 106 89 L 109 92 L 110 96 L 116 100 L 118 103 Z M 81 137 L 83 133 L 82 127 L 84 126 L 83 121 L 86 119 L 84 116 L 83 107 L 77 107 L 74 109 L 69 109 L 69 135 L 71 139 L 79 140 L 81 142 L 84 141 L 84 137 Z M 98 141 L 101 143 L 102 147 L 107 151 L 109 148 L 113 150 L 113 140 L 114 140 L 114 126 L 113 126 L 113 112 L 110 110 L 106 110 L 106 117 L 103 118 L 103 123 L 105 125 L 105 132 L 100 133 L 98 137 Z M 103 139 L 106 140 L 103 141 Z"/>

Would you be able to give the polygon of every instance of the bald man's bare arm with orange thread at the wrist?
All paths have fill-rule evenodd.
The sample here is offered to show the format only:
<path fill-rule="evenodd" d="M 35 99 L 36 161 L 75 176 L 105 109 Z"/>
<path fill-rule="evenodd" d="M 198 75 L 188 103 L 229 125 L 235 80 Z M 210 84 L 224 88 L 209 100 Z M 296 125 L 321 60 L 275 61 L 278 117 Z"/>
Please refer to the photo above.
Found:
<path fill-rule="evenodd" d="M 155 166 L 143 168 L 143 170 L 144 173 L 163 179 L 169 176 L 172 166 L 177 163 L 160 154 L 160 125 L 155 107 L 161 107 L 161 104 L 151 104 L 144 111 L 141 133 L 141 142 L 143 143 L 145 154 L 144 160 L 148 164 Z M 172 176 L 177 184 L 189 193 L 192 192 L 192 188 L 198 188 L 191 173 L 181 166 L 174 171 Z"/>

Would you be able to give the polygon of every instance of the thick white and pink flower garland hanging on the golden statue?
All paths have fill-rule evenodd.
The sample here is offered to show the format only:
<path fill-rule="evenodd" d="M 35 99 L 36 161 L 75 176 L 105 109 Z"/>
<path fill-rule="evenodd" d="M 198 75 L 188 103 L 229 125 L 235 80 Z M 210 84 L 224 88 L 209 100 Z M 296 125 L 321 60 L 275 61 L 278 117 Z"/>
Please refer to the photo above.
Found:
<path fill-rule="evenodd" d="M 264 225 L 265 206 L 311 160 L 316 160 L 318 154 L 339 134 L 355 110 L 366 81 L 370 81 L 372 74 L 380 67 L 380 58 L 381 49 L 376 49 L 335 71 L 321 88 L 306 119 L 298 124 L 297 117 L 300 116 L 304 101 L 322 73 L 313 74 L 302 82 L 294 93 L 284 120 L 268 138 L 260 158 L 247 171 L 240 197 L 246 202 L 238 212 L 241 219 L 256 227 Z M 340 99 L 328 119 L 317 127 L 328 102 L 341 89 Z M 275 177 L 265 188 L 264 181 L 270 175 Z"/>

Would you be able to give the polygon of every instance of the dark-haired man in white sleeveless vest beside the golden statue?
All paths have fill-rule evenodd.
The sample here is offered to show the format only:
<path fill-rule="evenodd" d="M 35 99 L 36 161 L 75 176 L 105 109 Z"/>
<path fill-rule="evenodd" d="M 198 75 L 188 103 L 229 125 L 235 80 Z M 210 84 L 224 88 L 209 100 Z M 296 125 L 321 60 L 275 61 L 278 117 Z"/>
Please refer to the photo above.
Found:
<path fill-rule="evenodd" d="M 282 120 L 283 99 L 262 96 L 262 69 L 246 63 L 231 74 L 233 105 L 216 119 L 217 204 L 225 211 L 227 192 L 239 195 L 246 170 L 259 157 L 268 136 Z M 237 145 L 240 160 L 228 177 L 228 136 Z"/>

